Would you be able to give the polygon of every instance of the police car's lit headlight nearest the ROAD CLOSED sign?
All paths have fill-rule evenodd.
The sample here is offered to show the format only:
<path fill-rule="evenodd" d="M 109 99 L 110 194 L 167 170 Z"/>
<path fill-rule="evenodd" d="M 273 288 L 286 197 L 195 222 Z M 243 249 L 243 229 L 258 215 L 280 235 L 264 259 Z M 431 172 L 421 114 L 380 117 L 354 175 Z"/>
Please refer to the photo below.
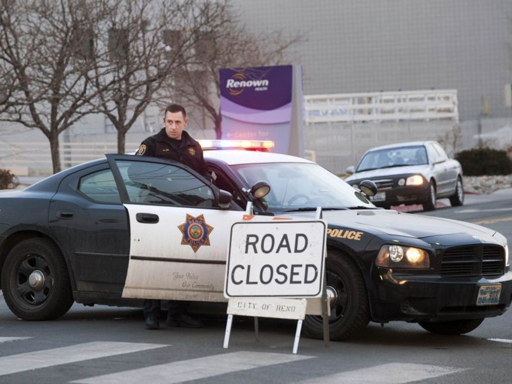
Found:
<path fill-rule="evenodd" d="M 421 248 L 383 245 L 377 255 L 379 267 L 429 268 L 429 253 Z"/>

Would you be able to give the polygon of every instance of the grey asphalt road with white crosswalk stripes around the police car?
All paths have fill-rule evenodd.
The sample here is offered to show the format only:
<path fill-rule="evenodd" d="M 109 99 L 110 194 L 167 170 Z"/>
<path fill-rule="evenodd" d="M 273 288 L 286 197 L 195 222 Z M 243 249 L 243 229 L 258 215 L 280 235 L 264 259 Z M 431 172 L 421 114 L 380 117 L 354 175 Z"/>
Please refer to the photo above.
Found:
<path fill-rule="evenodd" d="M 458 208 L 417 212 L 480 223 L 512 244 L 512 191 L 468 196 Z M 142 311 L 74 305 L 57 321 L 17 319 L 0 298 L 0 383 L 479 383 L 512 379 L 512 310 L 463 336 L 437 336 L 416 324 L 370 324 L 358 339 L 301 338 L 295 323 L 236 317 L 222 348 L 222 307 L 203 311 L 202 329 L 143 329 Z M 211 312 L 206 313 L 207 310 Z"/>

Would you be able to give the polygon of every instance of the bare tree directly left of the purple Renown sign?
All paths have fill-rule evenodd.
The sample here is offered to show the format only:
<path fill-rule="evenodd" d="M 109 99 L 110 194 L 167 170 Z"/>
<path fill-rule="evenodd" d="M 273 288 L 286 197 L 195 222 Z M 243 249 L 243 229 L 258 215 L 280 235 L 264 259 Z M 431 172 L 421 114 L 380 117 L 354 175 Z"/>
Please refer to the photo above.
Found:
<path fill-rule="evenodd" d="M 300 34 L 286 38 L 281 31 L 250 33 L 240 24 L 229 0 L 206 0 L 200 7 L 208 22 L 196 29 L 194 60 L 179 68 L 166 89 L 175 100 L 206 111 L 220 138 L 219 69 L 282 63 L 289 48 L 304 38 Z"/>

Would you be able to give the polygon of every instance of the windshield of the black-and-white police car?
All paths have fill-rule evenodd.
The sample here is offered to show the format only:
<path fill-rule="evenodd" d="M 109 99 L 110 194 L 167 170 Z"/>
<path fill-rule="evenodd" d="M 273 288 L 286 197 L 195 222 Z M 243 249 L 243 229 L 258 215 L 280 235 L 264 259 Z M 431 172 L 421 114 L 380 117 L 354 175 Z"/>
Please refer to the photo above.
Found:
<path fill-rule="evenodd" d="M 261 199 L 270 212 L 325 209 L 375 208 L 361 193 L 328 170 L 314 163 L 264 163 L 232 166 L 247 183 L 270 184 Z"/>

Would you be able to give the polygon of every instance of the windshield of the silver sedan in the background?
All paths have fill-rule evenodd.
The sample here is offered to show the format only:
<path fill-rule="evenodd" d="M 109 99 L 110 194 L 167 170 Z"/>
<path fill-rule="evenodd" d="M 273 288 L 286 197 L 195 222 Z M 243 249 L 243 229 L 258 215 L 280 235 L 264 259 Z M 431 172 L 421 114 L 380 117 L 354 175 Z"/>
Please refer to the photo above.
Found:
<path fill-rule="evenodd" d="M 357 166 L 356 172 L 428 163 L 426 150 L 423 145 L 402 146 L 368 152 Z"/>

